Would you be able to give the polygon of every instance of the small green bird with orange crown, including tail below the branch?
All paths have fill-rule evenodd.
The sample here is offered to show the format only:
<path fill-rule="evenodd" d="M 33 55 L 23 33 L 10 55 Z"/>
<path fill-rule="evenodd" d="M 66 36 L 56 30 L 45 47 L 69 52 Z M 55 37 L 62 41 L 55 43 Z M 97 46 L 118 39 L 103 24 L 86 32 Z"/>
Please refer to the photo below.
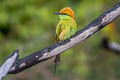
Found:
<path fill-rule="evenodd" d="M 59 15 L 60 18 L 60 21 L 56 26 L 56 42 L 70 38 L 70 36 L 75 34 L 77 30 L 76 21 L 74 19 L 74 11 L 70 7 L 65 7 L 61 9 L 60 12 L 56 12 L 55 14 Z M 54 76 L 57 64 L 59 62 L 60 54 L 56 55 L 54 60 L 55 63 Z"/>

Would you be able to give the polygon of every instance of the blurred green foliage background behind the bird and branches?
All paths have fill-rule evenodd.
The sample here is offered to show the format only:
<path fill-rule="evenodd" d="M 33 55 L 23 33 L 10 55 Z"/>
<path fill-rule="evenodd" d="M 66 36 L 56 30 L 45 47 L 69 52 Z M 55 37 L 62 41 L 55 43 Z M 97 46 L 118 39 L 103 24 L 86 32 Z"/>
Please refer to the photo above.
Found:
<path fill-rule="evenodd" d="M 15 49 L 20 58 L 55 42 L 63 7 L 75 12 L 78 30 L 111 8 L 117 0 L 1 0 L 0 1 L 0 63 Z M 120 43 L 120 19 L 91 38 L 62 54 L 53 78 L 54 58 L 4 80 L 120 80 L 120 56 L 101 48 L 103 37 Z"/>

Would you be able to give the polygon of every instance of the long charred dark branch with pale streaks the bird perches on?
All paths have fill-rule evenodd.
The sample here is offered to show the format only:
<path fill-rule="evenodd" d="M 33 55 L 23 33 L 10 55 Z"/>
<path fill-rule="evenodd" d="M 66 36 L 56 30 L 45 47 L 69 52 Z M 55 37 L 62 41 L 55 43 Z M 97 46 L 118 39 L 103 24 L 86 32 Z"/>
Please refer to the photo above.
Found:
<path fill-rule="evenodd" d="M 113 8 L 107 12 L 100 15 L 90 24 L 85 26 L 82 30 L 79 30 L 71 36 L 69 39 L 55 43 L 47 48 L 40 51 L 34 52 L 28 55 L 13 65 L 9 74 L 14 74 L 21 72 L 35 64 L 48 60 L 61 52 L 77 45 L 78 43 L 86 40 L 88 37 L 92 36 L 94 33 L 102 29 L 104 26 L 115 20 L 120 15 L 120 2 L 118 2 Z"/>

